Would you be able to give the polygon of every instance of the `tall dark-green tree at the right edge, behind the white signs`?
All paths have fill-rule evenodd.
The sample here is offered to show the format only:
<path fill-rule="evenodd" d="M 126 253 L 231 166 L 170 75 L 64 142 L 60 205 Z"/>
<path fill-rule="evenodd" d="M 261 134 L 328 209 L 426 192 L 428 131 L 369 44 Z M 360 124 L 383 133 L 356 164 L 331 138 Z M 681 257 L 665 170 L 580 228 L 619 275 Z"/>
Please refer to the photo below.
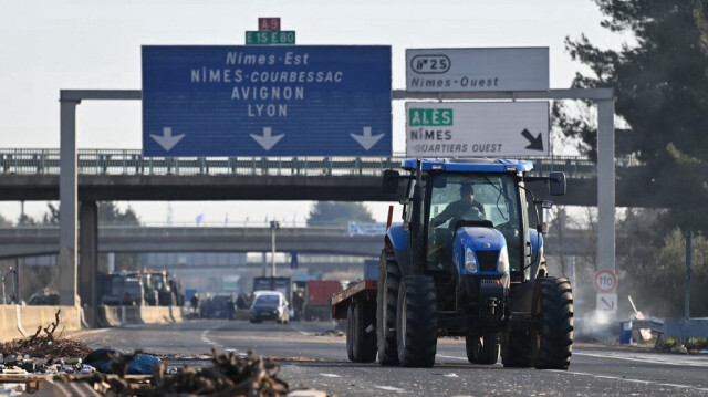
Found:
<path fill-rule="evenodd" d="M 659 195 L 708 194 L 708 0 L 595 0 L 607 15 L 601 24 L 629 32 L 636 45 L 601 50 L 582 35 L 565 45 L 574 60 L 592 71 L 577 74 L 575 87 L 614 87 L 616 115 L 626 123 L 617 130 L 620 153 L 644 161 L 643 175 L 632 178 L 662 184 Z M 585 143 L 594 155 L 595 127 L 571 119 L 554 106 L 558 125 Z M 622 177 L 622 176 L 621 176 Z M 671 208 L 671 223 L 708 232 L 708 209 Z"/>

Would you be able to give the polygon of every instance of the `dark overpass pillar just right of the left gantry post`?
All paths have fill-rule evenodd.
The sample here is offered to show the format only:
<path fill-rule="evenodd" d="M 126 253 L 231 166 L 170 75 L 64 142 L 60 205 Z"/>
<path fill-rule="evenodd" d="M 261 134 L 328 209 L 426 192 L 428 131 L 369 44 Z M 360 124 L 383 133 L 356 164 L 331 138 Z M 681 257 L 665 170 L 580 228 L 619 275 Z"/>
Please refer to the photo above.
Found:
<path fill-rule="evenodd" d="M 86 322 L 96 325 L 98 276 L 98 206 L 82 201 L 79 209 L 79 296 Z"/>

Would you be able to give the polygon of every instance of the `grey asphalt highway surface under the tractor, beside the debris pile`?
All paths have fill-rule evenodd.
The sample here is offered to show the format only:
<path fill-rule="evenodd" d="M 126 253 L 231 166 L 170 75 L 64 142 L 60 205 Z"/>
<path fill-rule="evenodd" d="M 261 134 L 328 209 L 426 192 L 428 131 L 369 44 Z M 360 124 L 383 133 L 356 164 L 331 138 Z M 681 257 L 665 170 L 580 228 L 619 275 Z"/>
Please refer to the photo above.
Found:
<path fill-rule="evenodd" d="M 433 368 L 352 363 L 333 322 L 250 324 L 196 320 L 83 332 L 90 346 L 169 355 L 173 364 L 218 352 L 278 361 L 291 388 L 330 396 L 708 396 L 708 355 L 653 353 L 646 348 L 576 344 L 568 370 L 472 365 L 465 341 L 440 338 Z M 207 365 L 199 359 L 191 365 Z"/>

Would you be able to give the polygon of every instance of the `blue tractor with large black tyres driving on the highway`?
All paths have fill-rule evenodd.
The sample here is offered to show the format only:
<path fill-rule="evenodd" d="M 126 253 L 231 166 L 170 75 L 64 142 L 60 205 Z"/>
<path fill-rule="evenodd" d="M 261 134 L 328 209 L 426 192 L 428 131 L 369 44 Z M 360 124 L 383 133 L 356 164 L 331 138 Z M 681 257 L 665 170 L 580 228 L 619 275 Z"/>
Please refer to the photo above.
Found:
<path fill-rule="evenodd" d="M 403 224 L 388 228 L 378 271 L 371 349 L 382 365 L 433 366 L 438 336 L 464 336 L 475 364 L 494 364 L 501 354 L 506 367 L 568 368 L 572 290 L 568 279 L 548 274 L 548 228 L 538 211 L 552 202 L 525 187 L 544 182 L 561 196 L 565 176 L 530 177 L 532 167 L 406 159 L 404 173 L 384 173 L 384 192 L 398 191 L 402 180 L 406 191 Z"/>

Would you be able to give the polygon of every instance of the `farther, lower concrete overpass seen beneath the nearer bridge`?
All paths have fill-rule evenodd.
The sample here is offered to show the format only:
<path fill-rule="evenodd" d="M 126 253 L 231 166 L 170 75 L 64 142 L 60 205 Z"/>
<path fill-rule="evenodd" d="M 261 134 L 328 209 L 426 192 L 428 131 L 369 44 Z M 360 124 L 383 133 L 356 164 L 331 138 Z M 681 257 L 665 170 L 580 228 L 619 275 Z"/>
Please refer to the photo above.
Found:
<path fill-rule="evenodd" d="M 0 259 L 56 254 L 59 227 L 0 228 Z M 139 227 L 98 228 L 98 252 L 271 252 L 270 228 Z M 551 234 L 548 254 L 585 255 L 595 247 L 589 232 L 566 230 L 562 247 Z M 345 228 L 280 228 L 275 251 L 378 257 L 383 236 L 350 234 Z"/>

